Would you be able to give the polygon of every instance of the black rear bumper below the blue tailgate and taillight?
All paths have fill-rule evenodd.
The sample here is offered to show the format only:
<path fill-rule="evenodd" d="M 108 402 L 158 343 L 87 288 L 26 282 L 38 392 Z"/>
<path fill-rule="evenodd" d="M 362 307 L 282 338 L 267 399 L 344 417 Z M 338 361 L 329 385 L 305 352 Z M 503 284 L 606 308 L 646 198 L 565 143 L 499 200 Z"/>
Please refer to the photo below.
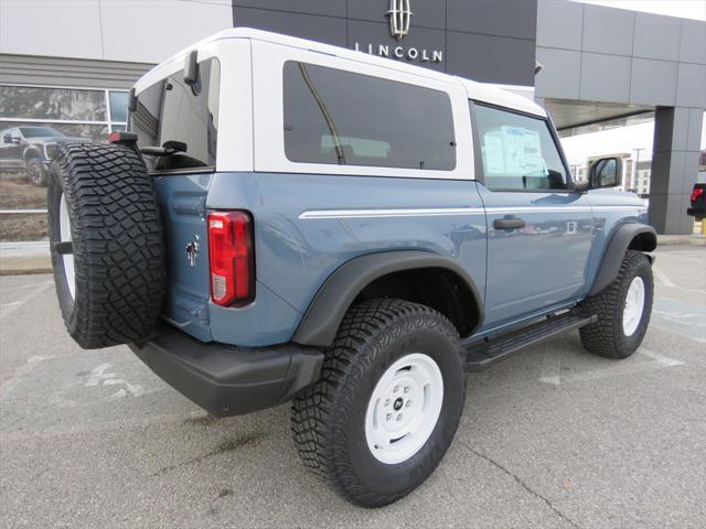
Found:
<path fill-rule="evenodd" d="M 312 347 L 204 344 L 169 325 L 161 325 L 145 344 L 129 347 L 162 380 L 218 417 L 290 400 L 319 379 L 323 364 L 323 353 Z"/>

